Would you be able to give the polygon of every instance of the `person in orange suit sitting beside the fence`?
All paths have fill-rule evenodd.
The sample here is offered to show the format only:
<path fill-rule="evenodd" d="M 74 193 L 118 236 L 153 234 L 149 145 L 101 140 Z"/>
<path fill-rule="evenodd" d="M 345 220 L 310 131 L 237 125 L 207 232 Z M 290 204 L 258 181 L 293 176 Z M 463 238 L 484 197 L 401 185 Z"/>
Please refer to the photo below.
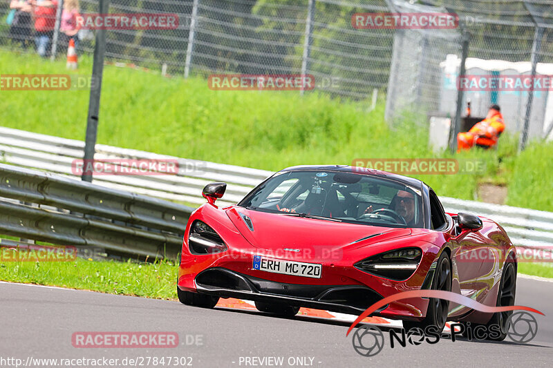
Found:
<path fill-rule="evenodd" d="M 468 132 L 457 135 L 457 151 L 469 150 L 475 144 L 482 148 L 491 148 L 497 144 L 503 130 L 505 123 L 500 108 L 498 105 L 491 105 L 482 122 L 474 124 Z"/>

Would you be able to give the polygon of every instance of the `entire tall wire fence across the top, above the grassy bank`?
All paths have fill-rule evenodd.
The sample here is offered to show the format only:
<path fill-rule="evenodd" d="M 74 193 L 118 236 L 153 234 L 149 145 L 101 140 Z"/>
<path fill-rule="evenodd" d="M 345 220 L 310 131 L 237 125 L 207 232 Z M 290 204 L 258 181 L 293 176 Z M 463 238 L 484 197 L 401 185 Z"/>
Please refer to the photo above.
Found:
<path fill-rule="evenodd" d="M 35 10 L 24 7 L 28 3 L 0 0 L 1 48 L 37 48 L 35 36 L 44 32 L 37 32 Z M 50 27 L 44 56 L 64 57 L 62 1 L 35 3 L 50 8 L 43 15 Z M 11 26 L 10 8 L 17 8 Z M 98 1 L 80 0 L 79 12 L 98 12 Z M 370 104 L 375 93 L 386 95 L 391 122 L 403 113 L 453 117 L 460 110 L 456 78 L 463 31 L 469 34 L 467 74 L 547 74 L 553 57 L 550 0 L 111 0 L 109 12 L 173 13 L 179 21 L 175 29 L 108 30 L 107 61 L 183 77 L 310 74 L 319 81 L 315 90 L 333 96 Z M 454 29 L 356 29 L 357 12 L 454 12 L 460 22 Z M 79 53 L 93 52 L 94 31 L 80 30 L 75 39 Z M 490 60 L 498 62 L 485 64 Z M 500 104 L 511 132 L 527 124 L 529 137 L 545 137 L 553 126 L 547 91 L 471 91 L 461 98 L 462 106 L 471 101 L 476 116 Z"/>

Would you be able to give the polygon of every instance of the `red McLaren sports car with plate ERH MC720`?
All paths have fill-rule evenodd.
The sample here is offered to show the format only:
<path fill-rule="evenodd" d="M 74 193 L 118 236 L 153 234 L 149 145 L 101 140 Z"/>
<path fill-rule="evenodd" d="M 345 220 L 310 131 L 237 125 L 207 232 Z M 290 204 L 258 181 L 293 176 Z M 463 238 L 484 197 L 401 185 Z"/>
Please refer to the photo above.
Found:
<path fill-rule="evenodd" d="M 507 233 L 484 217 L 444 213 L 420 180 L 351 166 L 294 166 L 220 209 L 215 201 L 225 188 L 205 186 L 208 203 L 187 223 L 177 287 L 184 304 L 212 308 L 233 297 L 284 316 L 299 307 L 359 314 L 418 289 L 514 304 L 516 251 Z M 503 327 L 508 316 L 427 298 L 376 313 L 403 320 L 406 329 L 440 331 L 446 320 Z"/>

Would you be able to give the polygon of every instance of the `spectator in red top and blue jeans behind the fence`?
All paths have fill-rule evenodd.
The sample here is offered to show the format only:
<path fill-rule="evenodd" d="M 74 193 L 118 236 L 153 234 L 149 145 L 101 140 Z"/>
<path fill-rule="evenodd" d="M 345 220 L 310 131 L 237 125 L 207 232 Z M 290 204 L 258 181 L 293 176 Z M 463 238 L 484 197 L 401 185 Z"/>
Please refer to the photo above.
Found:
<path fill-rule="evenodd" d="M 50 41 L 54 35 L 57 0 L 31 0 L 35 6 L 35 43 L 41 57 L 48 56 Z"/>

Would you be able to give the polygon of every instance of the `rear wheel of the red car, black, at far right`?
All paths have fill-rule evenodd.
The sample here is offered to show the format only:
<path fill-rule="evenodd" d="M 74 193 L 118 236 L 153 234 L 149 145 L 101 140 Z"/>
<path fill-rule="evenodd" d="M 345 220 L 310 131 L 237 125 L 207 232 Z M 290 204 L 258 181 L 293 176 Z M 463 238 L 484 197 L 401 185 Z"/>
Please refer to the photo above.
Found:
<path fill-rule="evenodd" d="M 505 262 L 505 268 L 503 269 L 503 275 L 501 275 L 500 287 L 497 296 L 497 307 L 507 307 L 514 305 L 514 298 L 516 294 L 516 268 L 514 263 L 510 260 Z M 509 317 L 513 314 L 513 311 L 494 313 L 491 320 L 487 323 L 488 331 L 492 325 L 499 326 L 500 334 L 496 337 L 487 336 L 487 340 L 503 341 L 507 337 L 507 331 L 509 326 L 507 322 Z"/>

